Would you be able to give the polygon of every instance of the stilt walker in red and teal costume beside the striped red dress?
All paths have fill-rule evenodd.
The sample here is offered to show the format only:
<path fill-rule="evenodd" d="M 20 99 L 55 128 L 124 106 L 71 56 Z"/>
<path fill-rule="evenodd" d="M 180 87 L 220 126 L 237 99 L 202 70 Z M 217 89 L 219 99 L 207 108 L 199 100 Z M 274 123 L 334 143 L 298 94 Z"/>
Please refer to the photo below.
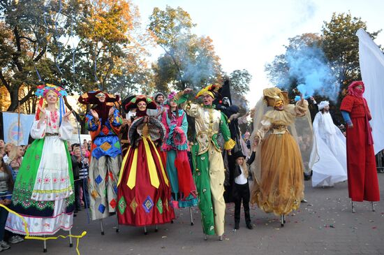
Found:
<path fill-rule="evenodd" d="M 162 115 L 162 122 L 166 130 L 162 149 L 167 155 L 167 173 L 172 188 L 174 207 L 189 207 L 191 225 L 193 225 L 191 207 L 198 205 L 198 198 L 186 153 L 188 150 L 186 112 L 179 109 L 177 100 L 176 92 L 171 92 L 165 102 L 169 107 L 165 108 Z"/>

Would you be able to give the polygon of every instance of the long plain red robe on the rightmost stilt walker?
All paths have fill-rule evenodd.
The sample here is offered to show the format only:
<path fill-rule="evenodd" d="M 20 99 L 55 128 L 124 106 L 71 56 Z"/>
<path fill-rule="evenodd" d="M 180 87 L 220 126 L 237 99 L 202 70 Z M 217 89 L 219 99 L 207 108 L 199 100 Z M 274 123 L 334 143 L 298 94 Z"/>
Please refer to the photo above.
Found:
<path fill-rule="evenodd" d="M 352 201 L 380 201 L 367 103 L 362 97 L 348 95 L 340 110 L 349 112 L 353 123 L 353 128 L 346 130 L 349 197 Z"/>

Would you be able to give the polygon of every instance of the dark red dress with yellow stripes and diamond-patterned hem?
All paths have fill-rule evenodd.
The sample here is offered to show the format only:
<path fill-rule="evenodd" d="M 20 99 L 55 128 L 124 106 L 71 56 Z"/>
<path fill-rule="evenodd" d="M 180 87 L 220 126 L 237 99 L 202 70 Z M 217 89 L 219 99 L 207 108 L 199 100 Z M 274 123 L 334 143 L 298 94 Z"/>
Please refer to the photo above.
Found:
<path fill-rule="evenodd" d="M 144 117 L 132 123 L 128 131 L 131 145 L 124 156 L 117 184 L 119 224 L 150 226 L 175 219 L 170 181 L 155 144 L 164 134 L 163 124 L 154 117 L 149 117 L 147 124 Z"/>

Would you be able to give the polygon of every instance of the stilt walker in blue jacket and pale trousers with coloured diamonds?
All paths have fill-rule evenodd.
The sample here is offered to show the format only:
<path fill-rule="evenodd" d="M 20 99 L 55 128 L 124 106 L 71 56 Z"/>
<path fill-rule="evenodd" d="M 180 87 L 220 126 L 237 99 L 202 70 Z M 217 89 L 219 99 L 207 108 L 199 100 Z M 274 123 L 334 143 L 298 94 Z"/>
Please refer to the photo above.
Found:
<path fill-rule="evenodd" d="M 119 96 L 92 91 L 82 94 L 79 102 L 93 104 L 86 116 L 86 125 L 91 135 L 91 161 L 89 163 L 89 209 L 91 219 L 100 220 L 101 235 L 104 234 L 103 219 L 115 214 L 117 207 L 117 178 L 121 166 L 119 128 L 122 119 L 110 103 L 119 101 Z"/>

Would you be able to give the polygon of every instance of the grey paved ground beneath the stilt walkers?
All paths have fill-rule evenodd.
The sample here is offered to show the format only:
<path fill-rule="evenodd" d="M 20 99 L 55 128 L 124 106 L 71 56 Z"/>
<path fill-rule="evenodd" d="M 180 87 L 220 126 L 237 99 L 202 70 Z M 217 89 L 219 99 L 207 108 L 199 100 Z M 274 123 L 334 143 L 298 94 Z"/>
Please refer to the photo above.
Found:
<path fill-rule="evenodd" d="M 381 197 L 384 198 L 384 174 L 379 174 Z M 98 221 L 87 223 L 82 210 L 75 218 L 73 234 L 87 231 L 80 240 L 80 254 L 384 254 L 384 203 L 371 212 L 368 202 L 357 203 L 356 212 L 350 210 L 346 182 L 327 189 L 313 189 L 306 182 L 306 198 L 300 210 L 287 217 L 281 228 L 279 218 L 265 214 L 257 207 L 251 209 L 253 230 L 246 228 L 244 219 L 234 233 L 234 205 L 228 204 L 226 234 L 223 242 L 216 236 L 202 238 L 200 214 L 195 208 L 195 225 L 190 226 L 189 211 L 177 210 L 175 224 L 148 228 L 121 226 L 115 231 L 115 217 L 105 220 L 105 235 L 100 234 Z M 65 234 L 65 233 L 63 233 Z M 68 247 L 68 240 L 47 242 L 48 254 L 76 254 Z M 4 254 L 42 254 L 43 243 L 26 240 Z"/>

